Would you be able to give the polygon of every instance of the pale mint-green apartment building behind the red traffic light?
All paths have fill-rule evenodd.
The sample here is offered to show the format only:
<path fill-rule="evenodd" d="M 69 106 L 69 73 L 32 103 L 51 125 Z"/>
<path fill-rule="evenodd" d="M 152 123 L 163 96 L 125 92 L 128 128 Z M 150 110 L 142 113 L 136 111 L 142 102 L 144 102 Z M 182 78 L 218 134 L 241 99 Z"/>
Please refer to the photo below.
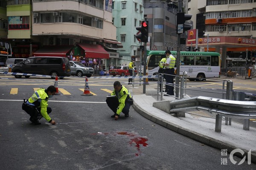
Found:
<path fill-rule="evenodd" d="M 118 50 L 121 60 L 113 61 L 113 65 L 128 65 L 131 58 L 135 65 L 140 65 L 140 42 L 136 39 L 136 27 L 140 26 L 143 17 L 142 0 L 113 0 L 113 24 L 116 26 L 116 39 L 122 42 L 123 48 Z"/>

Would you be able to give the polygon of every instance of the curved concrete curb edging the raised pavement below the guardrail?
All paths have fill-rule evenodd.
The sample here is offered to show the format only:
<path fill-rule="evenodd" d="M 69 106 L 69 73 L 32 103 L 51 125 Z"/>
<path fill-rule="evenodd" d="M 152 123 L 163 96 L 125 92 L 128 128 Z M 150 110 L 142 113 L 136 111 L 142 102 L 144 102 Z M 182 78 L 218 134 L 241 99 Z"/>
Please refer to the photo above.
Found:
<path fill-rule="evenodd" d="M 220 150 L 227 149 L 228 153 L 230 153 L 234 149 L 238 149 L 238 147 L 235 145 L 214 139 L 209 136 L 202 135 L 201 133 L 197 133 L 197 132 L 189 130 L 189 129 L 185 129 L 179 125 L 175 125 L 170 122 L 166 122 L 166 120 L 159 119 L 158 117 L 154 116 L 153 114 L 147 113 L 143 108 L 141 108 L 139 105 L 137 105 L 136 102 L 134 102 L 132 107 L 134 108 L 135 111 L 137 111 L 141 116 L 145 117 L 146 119 L 148 119 L 158 125 L 166 127 L 167 129 L 172 130 L 176 133 L 179 133 L 183 136 L 187 136 L 195 141 L 202 142 L 208 146 L 215 147 Z M 246 155 L 248 155 L 249 150 L 243 150 L 243 151 L 245 152 Z M 243 155 L 241 155 L 239 153 L 235 153 L 234 155 L 236 155 L 237 157 L 239 157 L 241 159 L 244 158 Z M 247 159 L 247 157 L 246 157 L 246 159 Z M 256 152 L 255 151 L 251 152 L 251 162 L 256 163 Z"/>

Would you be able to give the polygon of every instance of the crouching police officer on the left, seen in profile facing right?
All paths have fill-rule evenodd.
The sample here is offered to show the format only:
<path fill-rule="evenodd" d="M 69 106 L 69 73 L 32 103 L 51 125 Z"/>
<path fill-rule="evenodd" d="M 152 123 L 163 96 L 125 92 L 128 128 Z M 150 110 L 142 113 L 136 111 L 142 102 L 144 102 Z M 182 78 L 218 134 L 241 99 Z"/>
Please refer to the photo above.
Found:
<path fill-rule="evenodd" d="M 30 115 L 30 121 L 35 125 L 40 125 L 41 123 L 38 119 L 44 117 L 49 123 L 55 125 L 56 122 L 52 120 L 49 113 L 52 109 L 48 107 L 48 99 L 53 97 L 56 93 L 56 88 L 50 85 L 47 89 L 40 88 L 26 101 L 23 103 L 22 109 Z"/>

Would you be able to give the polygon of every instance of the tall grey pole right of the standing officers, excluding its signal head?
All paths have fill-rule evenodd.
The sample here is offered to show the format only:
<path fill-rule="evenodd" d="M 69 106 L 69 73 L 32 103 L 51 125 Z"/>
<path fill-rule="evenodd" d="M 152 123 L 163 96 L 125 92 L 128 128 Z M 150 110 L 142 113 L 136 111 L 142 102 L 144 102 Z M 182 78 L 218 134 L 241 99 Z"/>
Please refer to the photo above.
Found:
<path fill-rule="evenodd" d="M 178 11 L 182 12 L 182 0 L 179 0 L 178 3 Z M 175 97 L 179 98 L 179 85 L 180 85 L 180 34 L 178 34 L 178 40 L 177 40 L 177 58 L 176 58 L 176 79 L 175 79 L 175 84 L 176 84 L 176 88 L 175 88 Z"/>

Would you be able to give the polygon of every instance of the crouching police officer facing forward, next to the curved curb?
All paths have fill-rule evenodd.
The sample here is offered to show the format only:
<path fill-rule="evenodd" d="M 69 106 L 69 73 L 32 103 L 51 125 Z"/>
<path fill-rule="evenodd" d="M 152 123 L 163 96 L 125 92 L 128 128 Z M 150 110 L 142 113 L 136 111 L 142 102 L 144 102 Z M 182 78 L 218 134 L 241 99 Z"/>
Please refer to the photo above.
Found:
<path fill-rule="evenodd" d="M 110 96 L 107 96 L 106 102 L 114 112 L 111 117 L 115 120 L 119 118 L 121 112 L 125 114 L 125 117 L 129 117 L 129 109 L 133 105 L 133 100 L 130 92 L 119 81 L 114 82 L 114 90 Z"/>

